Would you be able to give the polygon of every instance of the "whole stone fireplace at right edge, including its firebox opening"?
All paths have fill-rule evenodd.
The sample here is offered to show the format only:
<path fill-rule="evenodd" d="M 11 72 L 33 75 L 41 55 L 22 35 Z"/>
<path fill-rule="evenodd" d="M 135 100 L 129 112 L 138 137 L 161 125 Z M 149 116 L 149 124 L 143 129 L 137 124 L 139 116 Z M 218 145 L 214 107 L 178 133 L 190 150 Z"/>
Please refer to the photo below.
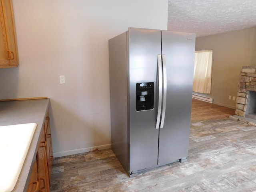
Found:
<path fill-rule="evenodd" d="M 243 66 L 236 98 L 236 115 L 256 120 L 256 66 Z"/>

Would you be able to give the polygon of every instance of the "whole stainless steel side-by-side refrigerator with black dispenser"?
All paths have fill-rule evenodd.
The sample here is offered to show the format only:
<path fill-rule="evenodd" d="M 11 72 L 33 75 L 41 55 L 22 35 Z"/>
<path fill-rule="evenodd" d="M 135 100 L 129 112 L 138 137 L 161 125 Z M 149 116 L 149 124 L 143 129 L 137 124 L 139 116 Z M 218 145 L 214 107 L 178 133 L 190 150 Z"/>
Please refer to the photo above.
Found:
<path fill-rule="evenodd" d="M 129 28 L 109 40 L 112 150 L 130 176 L 186 161 L 195 34 Z"/>

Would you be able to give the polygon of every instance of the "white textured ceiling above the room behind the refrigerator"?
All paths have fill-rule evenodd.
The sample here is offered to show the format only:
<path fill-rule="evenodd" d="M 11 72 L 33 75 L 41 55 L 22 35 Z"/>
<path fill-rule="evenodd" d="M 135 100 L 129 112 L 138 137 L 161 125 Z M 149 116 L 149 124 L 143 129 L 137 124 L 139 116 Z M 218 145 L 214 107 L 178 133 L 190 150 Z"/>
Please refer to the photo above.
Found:
<path fill-rule="evenodd" d="M 197 37 L 256 26 L 256 0 L 168 0 L 168 30 Z"/>

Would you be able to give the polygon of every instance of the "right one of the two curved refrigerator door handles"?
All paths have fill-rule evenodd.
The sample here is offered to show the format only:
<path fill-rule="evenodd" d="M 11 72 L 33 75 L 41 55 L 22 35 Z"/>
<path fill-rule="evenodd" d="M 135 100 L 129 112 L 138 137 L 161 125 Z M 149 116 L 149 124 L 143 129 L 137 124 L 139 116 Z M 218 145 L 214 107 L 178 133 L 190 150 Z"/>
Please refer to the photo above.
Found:
<path fill-rule="evenodd" d="M 162 118 L 160 128 L 164 127 L 164 118 L 166 110 L 166 94 L 167 94 L 167 73 L 166 73 L 166 55 L 162 55 L 163 62 L 163 108 L 162 108 Z"/>

